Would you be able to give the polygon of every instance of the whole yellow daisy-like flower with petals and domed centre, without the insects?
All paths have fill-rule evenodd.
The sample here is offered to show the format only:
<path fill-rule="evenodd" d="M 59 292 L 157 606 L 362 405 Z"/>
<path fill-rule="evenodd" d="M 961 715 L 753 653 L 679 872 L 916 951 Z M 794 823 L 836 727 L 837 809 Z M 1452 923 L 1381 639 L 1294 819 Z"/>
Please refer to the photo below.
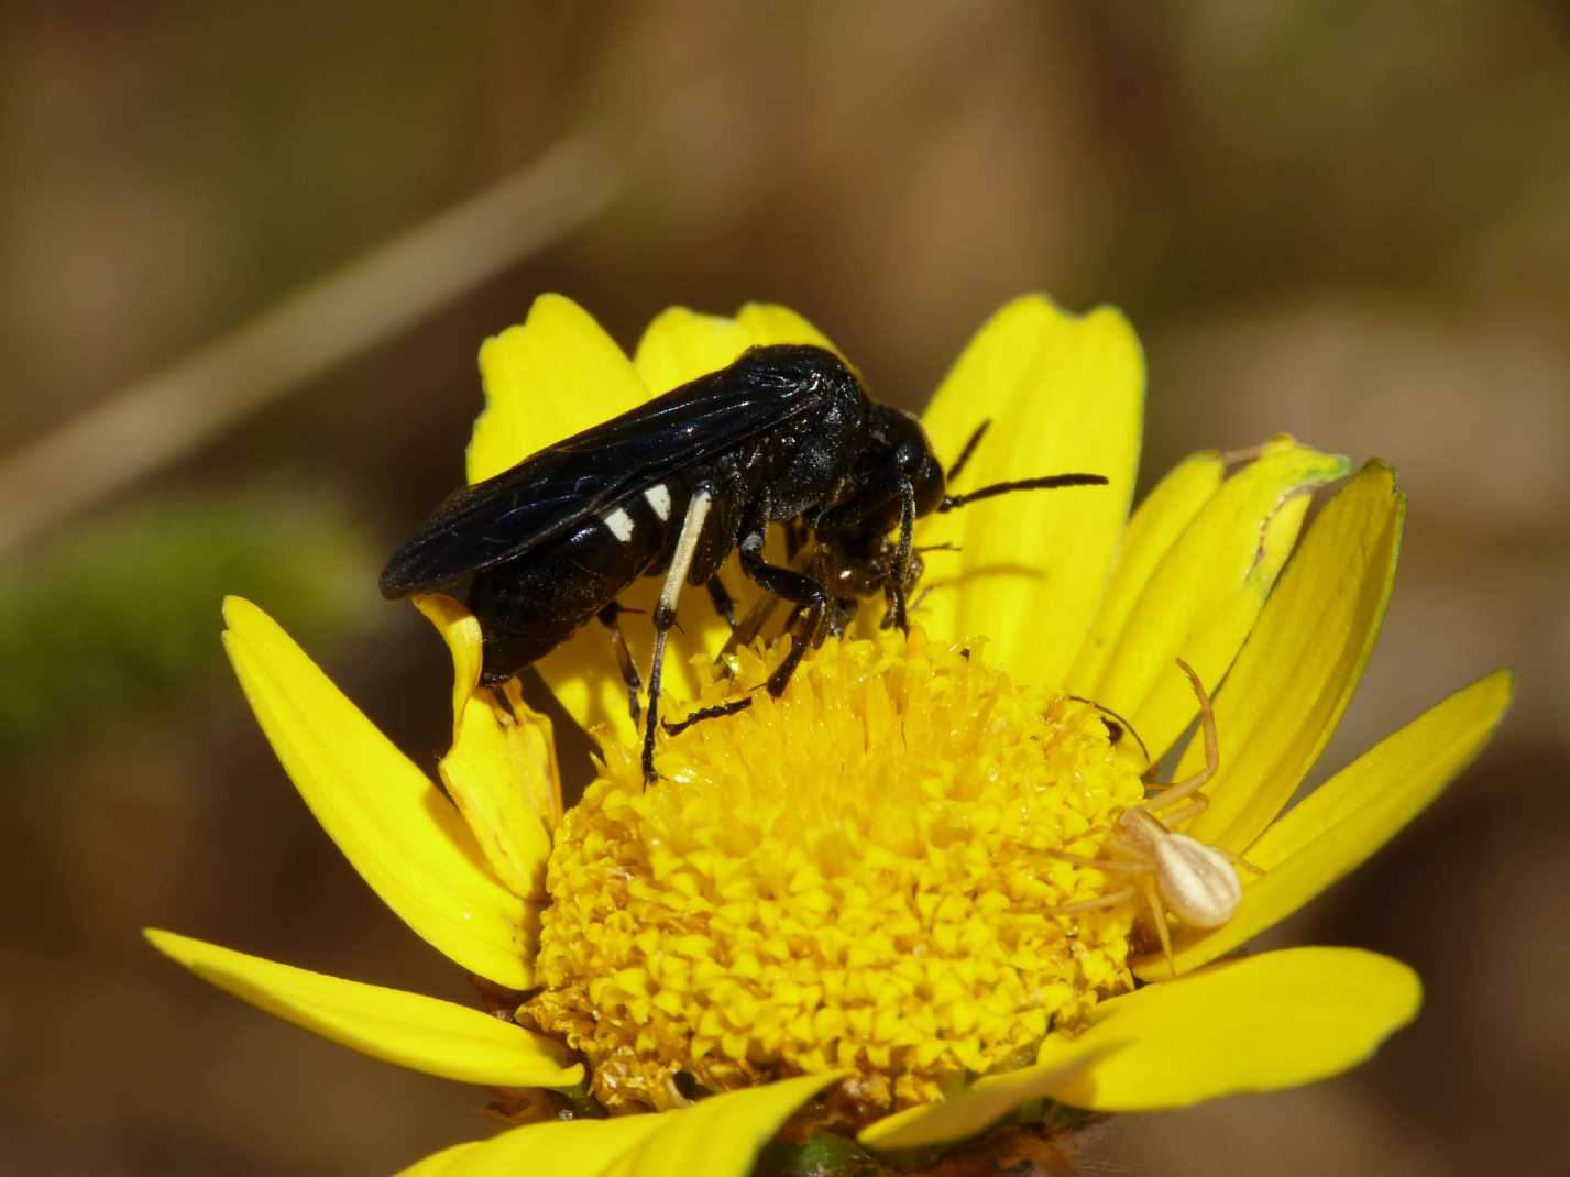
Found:
<path fill-rule="evenodd" d="M 628 359 L 578 306 L 540 298 L 480 352 L 469 479 L 771 342 L 829 345 L 783 308 L 674 309 Z M 1298 545 L 1308 493 L 1347 465 L 1276 438 L 1242 463 L 1188 458 L 1126 519 L 1141 397 L 1115 311 L 1003 308 L 923 417 L 934 447 L 951 458 L 991 419 L 975 485 L 1069 469 L 1110 485 L 923 519 L 918 541 L 955 551 L 929 552 L 909 637 L 826 643 L 783 698 L 666 739 L 669 778 L 647 789 L 608 643 L 573 639 L 539 670 L 604 763 L 565 814 L 546 720 L 515 684 L 479 689 L 479 626 L 455 601 L 418 601 L 454 658 L 446 796 L 265 614 L 228 601 L 236 672 L 317 819 L 416 934 L 513 997 L 493 1017 L 149 938 L 338 1042 L 575 1114 L 422 1174 L 744 1174 L 793 1119 L 793 1139 L 832 1128 L 884 1155 L 1035 1122 L 1042 1100 L 1171 1108 L 1355 1066 L 1415 1017 L 1411 970 L 1333 948 L 1221 957 L 1427 805 L 1512 683 L 1451 695 L 1286 810 L 1378 632 L 1404 497 L 1372 461 Z M 722 623 L 706 606 L 681 623 L 674 714 L 760 683 L 780 653 L 743 650 L 736 681 L 716 681 Z M 1173 825 L 1262 873 L 1242 874 L 1220 926 L 1179 924 L 1168 957 L 1108 847 L 1121 814 L 1159 807 L 1146 756 L 1198 714 L 1179 658 L 1225 689 L 1209 805 Z M 1204 760 L 1195 738 L 1174 775 Z"/>

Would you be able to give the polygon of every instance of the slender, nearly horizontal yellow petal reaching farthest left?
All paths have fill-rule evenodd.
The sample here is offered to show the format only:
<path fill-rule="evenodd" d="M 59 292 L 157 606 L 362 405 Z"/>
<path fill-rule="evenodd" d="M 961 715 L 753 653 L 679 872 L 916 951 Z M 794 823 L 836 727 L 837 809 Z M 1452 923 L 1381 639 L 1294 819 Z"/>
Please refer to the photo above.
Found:
<path fill-rule="evenodd" d="M 501 1088 L 570 1088 L 582 1067 L 556 1040 L 477 1009 L 422 993 L 311 973 L 146 931 L 160 953 L 273 1017 L 385 1062 L 427 1075 Z"/>

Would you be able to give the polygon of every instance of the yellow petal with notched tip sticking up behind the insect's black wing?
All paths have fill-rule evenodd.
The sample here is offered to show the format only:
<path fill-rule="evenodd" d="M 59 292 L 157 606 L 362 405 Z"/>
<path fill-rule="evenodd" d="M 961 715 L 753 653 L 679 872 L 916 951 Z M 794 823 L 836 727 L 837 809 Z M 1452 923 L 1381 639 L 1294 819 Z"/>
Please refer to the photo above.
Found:
<path fill-rule="evenodd" d="M 648 399 L 615 341 L 578 303 L 540 295 L 521 326 L 480 345 L 485 410 L 469 439 L 469 482 Z"/>

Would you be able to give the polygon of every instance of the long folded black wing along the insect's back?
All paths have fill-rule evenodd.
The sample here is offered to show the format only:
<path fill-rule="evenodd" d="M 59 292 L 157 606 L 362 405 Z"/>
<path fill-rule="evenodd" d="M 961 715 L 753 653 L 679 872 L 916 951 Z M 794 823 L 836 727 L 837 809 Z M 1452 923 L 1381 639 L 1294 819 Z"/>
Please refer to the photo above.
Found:
<path fill-rule="evenodd" d="M 382 595 L 435 588 L 523 556 L 694 463 L 812 413 L 838 374 L 849 377 L 821 348 L 754 348 L 730 367 L 463 486 L 392 556 Z"/>

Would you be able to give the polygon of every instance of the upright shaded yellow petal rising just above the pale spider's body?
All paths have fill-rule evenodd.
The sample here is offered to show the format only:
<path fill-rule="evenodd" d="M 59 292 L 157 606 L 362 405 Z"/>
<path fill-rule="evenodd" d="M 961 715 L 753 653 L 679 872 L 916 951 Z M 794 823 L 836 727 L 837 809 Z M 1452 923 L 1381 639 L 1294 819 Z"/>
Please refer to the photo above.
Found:
<path fill-rule="evenodd" d="M 1185 833 L 1242 851 L 1313 767 L 1385 620 L 1405 515 L 1396 471 L 1371 461 L 1314 519 L 1217 700 L 1221 767 Z M 1176 777 L 1203 764 L 1192 741 Z"/>

